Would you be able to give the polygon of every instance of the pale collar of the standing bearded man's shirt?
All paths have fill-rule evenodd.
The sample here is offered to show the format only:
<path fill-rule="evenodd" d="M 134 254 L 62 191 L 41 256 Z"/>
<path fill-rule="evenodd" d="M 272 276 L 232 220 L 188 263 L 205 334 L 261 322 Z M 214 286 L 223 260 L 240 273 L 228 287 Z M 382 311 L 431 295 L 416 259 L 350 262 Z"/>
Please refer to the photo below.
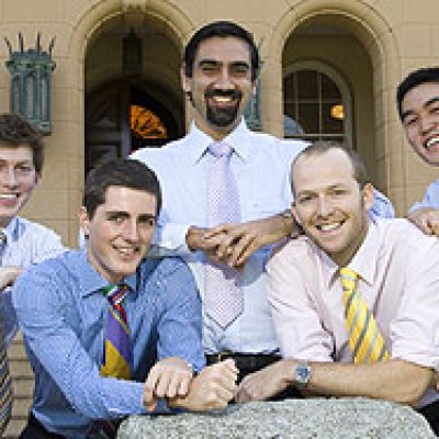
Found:
<path fill-rule="evenodd" d="M 244 117 L 241 117 L 239 125 L 224 137 L 222 142 L 233 146 L 237 156 L 247 160 L 251 146 L 251 136 L 249 134 L 250 131 Z M 190 145 L 189 155 L 193 164 L 196 164 L 205 155 L 209 145 L 215 142 L 211 136 L 201 131 L 194 121 L 191 123 L 187 138 Z"/>

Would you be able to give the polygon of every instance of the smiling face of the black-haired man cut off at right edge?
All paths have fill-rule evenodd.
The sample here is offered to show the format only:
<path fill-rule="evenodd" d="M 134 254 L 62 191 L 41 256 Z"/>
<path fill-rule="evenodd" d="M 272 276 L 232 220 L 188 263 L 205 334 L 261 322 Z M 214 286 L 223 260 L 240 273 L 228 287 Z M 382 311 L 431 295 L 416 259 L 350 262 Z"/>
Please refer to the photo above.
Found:
<path fill-rule="evenodd" d="M 415 153 L 439 166 L 439 83 L 425 82 L 410 89 L 402 101 L 402 120 Z"/>

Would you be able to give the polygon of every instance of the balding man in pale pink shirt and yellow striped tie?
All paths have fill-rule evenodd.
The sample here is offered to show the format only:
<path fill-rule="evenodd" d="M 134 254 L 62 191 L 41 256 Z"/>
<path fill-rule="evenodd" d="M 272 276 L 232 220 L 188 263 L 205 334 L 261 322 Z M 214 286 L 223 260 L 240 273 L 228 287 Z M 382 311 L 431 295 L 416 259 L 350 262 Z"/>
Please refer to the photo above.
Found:
<path fill-rule="evenodd" d="M 237 399 L 297 386 L 311 396 L 393 401 L 416 407 L 439 434 L 439 240 L 403 218 L 371 219 L 365 168 L 336 143 L 301 153 L 292 188 L 306 236 L 268 263 L 284 359 L 246 378 Z"/>

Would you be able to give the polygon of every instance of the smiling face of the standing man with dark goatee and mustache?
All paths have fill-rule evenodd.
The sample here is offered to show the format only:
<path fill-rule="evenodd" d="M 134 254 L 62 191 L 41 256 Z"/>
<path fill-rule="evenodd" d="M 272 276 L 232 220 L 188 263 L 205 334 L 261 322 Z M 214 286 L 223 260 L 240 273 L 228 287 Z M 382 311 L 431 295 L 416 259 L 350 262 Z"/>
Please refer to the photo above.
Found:
<path fill-rule="evenodd" d="M 192 77 L 182 70 L 182 83 L 200 130 L 215 139 L 225 137 L 238 125 L 255 93 L 249 45 L 234 36 L 204 40 L 196 50 Z"/>

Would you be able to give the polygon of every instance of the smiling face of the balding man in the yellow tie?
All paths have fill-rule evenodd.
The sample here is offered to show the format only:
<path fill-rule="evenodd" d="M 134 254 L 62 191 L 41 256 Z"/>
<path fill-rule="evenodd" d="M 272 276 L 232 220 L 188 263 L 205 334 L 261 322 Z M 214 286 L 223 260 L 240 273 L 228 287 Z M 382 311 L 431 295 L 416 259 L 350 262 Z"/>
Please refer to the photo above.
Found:
<path fill-rule="evenodd" d="M 292 183 L 296 221 L 338 266 L 348 264 L 368 233 L 372 185 L 360 189 L 341 149 L 300 157 L 293 166 Z"/>

